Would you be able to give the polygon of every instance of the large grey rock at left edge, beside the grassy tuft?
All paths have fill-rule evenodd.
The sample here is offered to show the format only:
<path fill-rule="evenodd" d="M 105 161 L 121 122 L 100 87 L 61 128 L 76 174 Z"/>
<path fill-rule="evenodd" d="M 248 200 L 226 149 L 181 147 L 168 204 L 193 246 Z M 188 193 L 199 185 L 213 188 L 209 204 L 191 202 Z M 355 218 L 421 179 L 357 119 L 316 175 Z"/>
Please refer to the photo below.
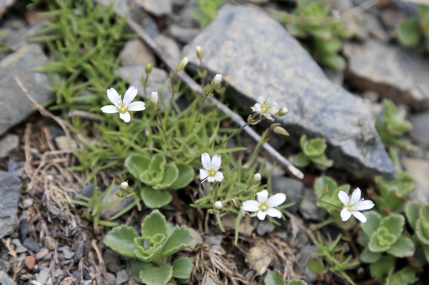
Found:
<path fill-rule="evenodd" d="M 5 102 L 8 106 L 7 112 L 0 112 L 0 135 L 33 113 L 33 105 L 18 86 L 15 77 L 21 80 L 39 104 L 54 96 L 53 92 L 45 88 L 51 85 L 49 76 L 32 70 L 44 67 L 48 61 L 39 45 L 20 47 L 0 61 L 0 102 Z"/>

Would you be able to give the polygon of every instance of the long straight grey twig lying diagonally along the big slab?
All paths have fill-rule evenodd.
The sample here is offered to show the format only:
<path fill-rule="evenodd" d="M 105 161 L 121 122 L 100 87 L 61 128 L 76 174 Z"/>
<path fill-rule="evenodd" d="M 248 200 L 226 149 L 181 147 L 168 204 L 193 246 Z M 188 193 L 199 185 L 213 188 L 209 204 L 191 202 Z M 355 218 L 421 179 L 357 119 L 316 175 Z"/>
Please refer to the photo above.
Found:
<path fill-rule="evenodd" d="M 121 14 L 119 14 L 117 12 L 117 14 L 119 16 L 122 16 Z M 171 69 L 174 70 L 175 69 L 175 62 L 173 61 L 173 59 L 164 51 L 162 50 L 157 43 L 148 35 L 148 33 L 145 32 L 145 30 L 143 30 L 139 24 L 137 24 L 133 19 L 131 19 L 130 17 L 127 18 L 127 24 L 130 26 L 130 28 L 137 33 L 142 40 L 145 42 L 146 45 L 148 45 L 153 51 L 154 53 L 157 54 L 157 56 L 160 57 L 160 59 L 166 64 L 166 66 Z M 196 93 L 202 93 L 202 88 L 201 86 L 196 83 L 192 77 L 190 77 L 187 73 L 180 71 L 177 72 L 176 75 L 184 82 L 186 83 L 190 89 L 192 89 L 194 92 Z M 222 104 L 220 101 L 218 101 L 218 99 L 216 99 L 214 96 L 211 96 L 210 98 L 207 99 L 208 101 L 210 101 L 212 104 L 215 104 L 216 107 L 218 107 L 219 110 L 221 110 L 223 113 L 227 114 L 230 116 L 231 120 L 233 120 L 234 122 L 236 122 L 236 124 L 238 124 L 240 127 L 245 125 L 246 122 L 242 119 L 241 116 L 239 116 L 238 114 L 234 113 L 233 110 L 231 110 L 230 108 L 228 108 L 227 106 L 225 106 L 224 104 Z M 257 134 L 252 128 L 250 128 L 249 126 L 244 128 L 244 131 L 246 133 L 248 133 L 248 135 L 250 137 L 252 137 L 254 140 L 256 140 L 257 142 L 259 142 L 261 140 L 261 137 L 259 134 Z M 289 162 L 289 160 L 287 160 L 285 157 L 283 157 L 281 154 L 278 153 L 278 151 L 276 151 L 271 145 L 269 145 L 268 143 L 264 143 L 262 145 L 262 147 L 265 149 L 266 152 L 268 152 L 272 157 L 274 157 L 275 159 L 277 159 L 280 163 L 282 163 L 284 166 L 287 167 L 287 169 L 290 171 L 290 173 L 294 176 L 296 176 L 299 179 L 304 178 L 304 174 L 299 171 L 299 169 L 297 169 L 292 163 Z"/>

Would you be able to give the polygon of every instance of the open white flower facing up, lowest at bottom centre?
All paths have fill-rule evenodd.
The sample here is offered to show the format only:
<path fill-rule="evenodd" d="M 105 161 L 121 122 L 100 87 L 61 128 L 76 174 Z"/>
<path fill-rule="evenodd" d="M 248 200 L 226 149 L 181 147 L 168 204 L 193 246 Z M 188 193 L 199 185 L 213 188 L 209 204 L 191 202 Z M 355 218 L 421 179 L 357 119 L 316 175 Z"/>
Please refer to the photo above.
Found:
<path fill-rule="evenodd" d="M 286 201 L 286 195 L 277 193 L 268 198 L 268 191 L 262 190 L 256 193 L 258 201 L 248 200 L 243 202 L 243 210 L 248 212 L 258 212 L 257 217 L 259 220 L 265 220 L 265 216 L 281 218 L 281 212 L 275 209 Z"/>

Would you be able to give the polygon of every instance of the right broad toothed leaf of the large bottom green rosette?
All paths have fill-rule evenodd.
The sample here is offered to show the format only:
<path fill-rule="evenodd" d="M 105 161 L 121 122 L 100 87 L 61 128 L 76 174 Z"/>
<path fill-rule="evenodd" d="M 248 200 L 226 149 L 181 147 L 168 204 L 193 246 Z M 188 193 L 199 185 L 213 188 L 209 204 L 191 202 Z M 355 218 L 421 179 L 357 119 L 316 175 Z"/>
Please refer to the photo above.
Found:
<path fill-rule="evenodd" d="M 186 226 L 176 228 L 172 235 L 168 238 L 161 252 L 161 258 L 166 258 L 172 254 L 175 254 L 179 250 L 196 246 L 196 240 L 193 237 L 190 229 Z"/>

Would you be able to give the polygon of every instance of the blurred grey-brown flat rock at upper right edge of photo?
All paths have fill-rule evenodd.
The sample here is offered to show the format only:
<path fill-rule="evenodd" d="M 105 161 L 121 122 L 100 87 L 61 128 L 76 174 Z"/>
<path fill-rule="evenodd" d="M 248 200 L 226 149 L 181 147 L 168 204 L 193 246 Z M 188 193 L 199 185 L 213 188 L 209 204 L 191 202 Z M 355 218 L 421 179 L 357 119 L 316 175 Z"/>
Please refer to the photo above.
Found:
<path fill-rule="evenodd" d="M 346 79 L 351 85 L 416 110 L 429 108 L 429 61 L 421 55 L 374 39 L 345 42 L 343 53 L 348 59 Z"/>

